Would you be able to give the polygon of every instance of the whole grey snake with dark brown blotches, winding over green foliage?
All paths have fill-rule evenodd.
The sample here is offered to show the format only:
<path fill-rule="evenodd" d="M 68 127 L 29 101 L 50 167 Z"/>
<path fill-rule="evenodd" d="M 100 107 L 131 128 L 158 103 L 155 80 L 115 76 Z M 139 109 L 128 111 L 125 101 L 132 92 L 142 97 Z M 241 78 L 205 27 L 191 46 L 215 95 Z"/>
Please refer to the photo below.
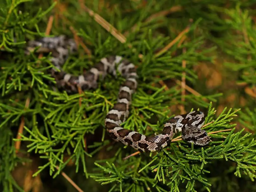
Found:
<path fill-rule="evenodd" d="M 189 143 L 204 146 L 210 142 L 207 133 L 200 129 L 204 124 L 204 113 L 200 111 L 174 116 L 164 124 L 162 133 L 153 137 L 121 127 L 120 124 L 129 115 L 132 93 L 137 88 L 138 77 L 135 66 L 121 56 L 102 58 L 84 75 L 73 76 L 61 69 L 68 58 L 68 54 L 77 50 L 73 39 L 67 39 L 65 36 L 44 37 L 40 40 L 29 41 L 27 50 L 37 46 L 41 50 L 46 49 L 48 52 L 52 52 L 51 61 L 60 71 L 51 69 L 51 75 L 55 78 L 57 87 L 65 89 L 69 93 L 78 92 L 77 86 L 81 87 L 82 90 L 97 88 L 99 77 L 104 78 L 108 73 L 116 76 L 116 65 L 119 64 L 117 70 L 126 81 L 120 87 L 116 104 L 108 112 L 105 119 L 106 130 L 113 140 L 129 145 L 140 152 L 152 152 L 166 147 L 177 132 L 182 132 L 182 138 Z"/>

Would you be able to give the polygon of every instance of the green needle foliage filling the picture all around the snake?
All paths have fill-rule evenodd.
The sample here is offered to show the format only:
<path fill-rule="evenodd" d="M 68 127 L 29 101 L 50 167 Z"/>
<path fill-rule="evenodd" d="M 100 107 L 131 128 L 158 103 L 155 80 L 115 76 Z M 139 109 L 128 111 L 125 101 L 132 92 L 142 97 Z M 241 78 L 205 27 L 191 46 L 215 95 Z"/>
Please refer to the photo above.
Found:
<path fill-rule="evenodd" d="M 0 2 L 0 189 L 23 191 L 13 179 L 15 167 L 25 161 L 15 153 L 14 144 L 21 141 L 25 153 L 40 157 L 33 176 L 46 174 L 57 179 L 73 162 L 73 179 L 82 178 L 77 184 L 84 191 L 88 186 L 99 191 L 100 184 L 104 186 L 102 191 L 123 192 L 255 191 L 255 100 L 248 97 L 248 106 L 227 106 L 216 115 L 221 92 L 212 93 L 204 85 L 197 90 L 200 96 L 189 92 L 182 96 L 180 85 L 176 84 L 185 72 L 188 86 L 201 85 L 195 67 L 202 62 L 212 65 L 221 52 L 231 58 L 225 67 L 231 71 L 232 79 L 243 81 L 250 88 L 255 86 L 253 1 L 246 1 L 243 6 L 239 1 L 230 1 L 229 7 L 219 0 L 150 0 L 143 6 L 142 0 L 109 0 L 104 6 L 102 2 L 88 1 L 86 6 L 122 34 L 128 32 L 125 43 L 81 9 L 81 1 Z M 171 7 L 178 11 L 148 19 Z M 104 118 L 116 102 L 124 78 L 120 74 L 115 78 L 108 75 L 97 89 L 69 95 L 54 89 L 56 82 L 48 72 L 54 67 L 49 60 L 51 53 L 38 58 L 37 49 L 29 55 L 24 52 L 28 40 L 45 36 L 49 16 L 55 13 L 61 13 L 60 20 L 55 17 L 51 34 L 72 37 L 72 26 L 92 52 L 90 57 L 80 46 L 78 53 L 65 62 L 66 72 L 82 74 L 108 55 L 122 55 L 138 67 L 139 85 L 124 128 L 148 136 L 160 133 L 164 122 L 180 113 L 172 106 L 183 105 L 187 111 L 194 108 L 205 112 L 204 129 L 213 132 L 212 142 L 198 147 L 183 140 L 174 141 L 159 152 L 123 160 L 135 151 L 109 139 Z M 179 40 L 159 53 L 187 27 L 182 44 Z M 182 67 L 183 60 L 186 68 Z M 168 90 L 160 81 L 168 84 Z M 25 107 L 28 100 L 29 106 Z M 17 140 L 21 119 L 25 126 Z M 236 122 L 243 129 L 237 129 Z"/>

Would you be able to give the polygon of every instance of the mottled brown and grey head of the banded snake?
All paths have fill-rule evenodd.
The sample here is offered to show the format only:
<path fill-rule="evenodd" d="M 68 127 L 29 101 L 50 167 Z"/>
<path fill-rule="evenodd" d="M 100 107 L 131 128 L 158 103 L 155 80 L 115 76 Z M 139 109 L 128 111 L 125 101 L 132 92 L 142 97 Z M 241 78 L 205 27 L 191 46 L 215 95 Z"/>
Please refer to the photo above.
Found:
<path fill-rule="evenodd" d="M 185 126 L 185 129 L 182 130 L 182 138 L 188 143 L 200 146 L 207 145 L 211 141 L 204 130 L 193 125 Z"/>

